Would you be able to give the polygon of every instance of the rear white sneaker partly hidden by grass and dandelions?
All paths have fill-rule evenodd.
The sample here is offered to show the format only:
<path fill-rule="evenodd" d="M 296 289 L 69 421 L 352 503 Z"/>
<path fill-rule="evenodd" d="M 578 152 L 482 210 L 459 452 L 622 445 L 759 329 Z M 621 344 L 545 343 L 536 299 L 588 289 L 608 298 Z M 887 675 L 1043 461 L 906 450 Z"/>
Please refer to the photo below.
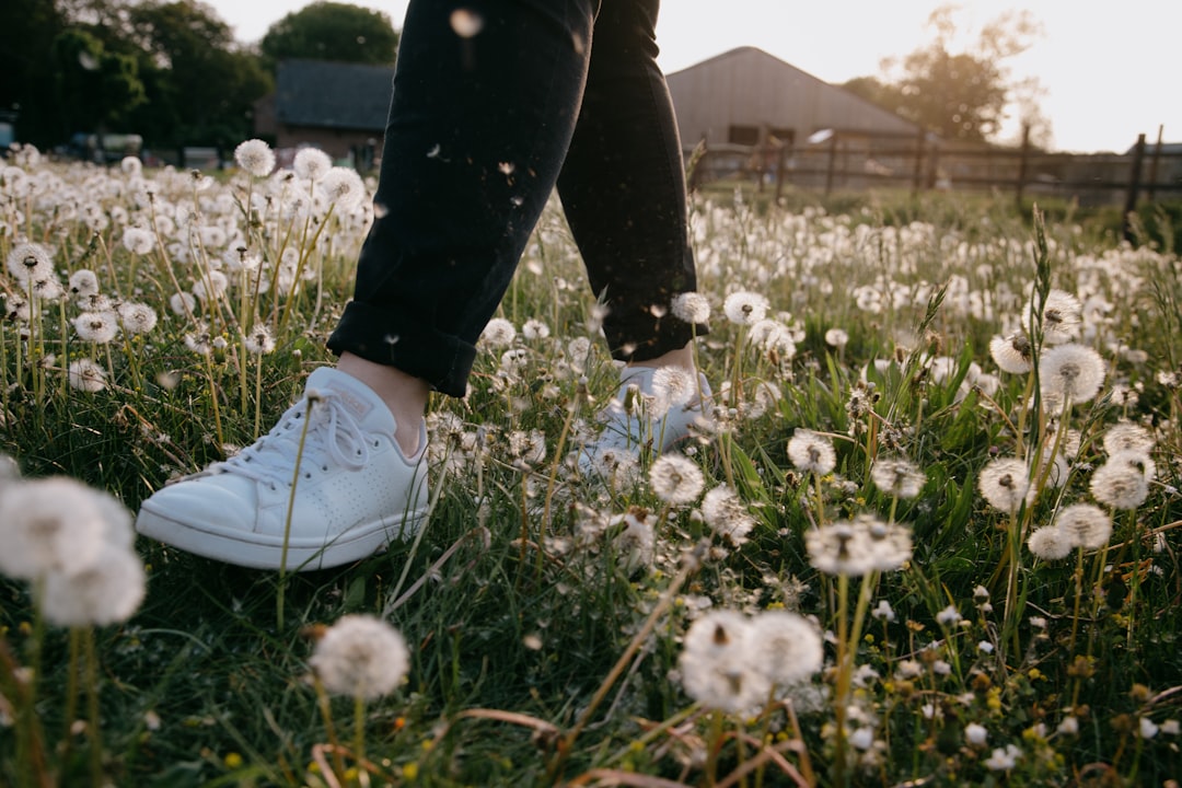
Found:
<path fill-rule="evenodd" d="M 688 372 L 678 376 L 677 369 L 663 369 L 621 370 L 619 391 L 599 412 L 603 430 L 579 451 L 579 470 L 609 471 L 622 456 L 660 454 L 693 437 L 695 428 L 704 430 L 703 403 L 712 397 L 706 376 L 699 372 L 695 380 Z"/>

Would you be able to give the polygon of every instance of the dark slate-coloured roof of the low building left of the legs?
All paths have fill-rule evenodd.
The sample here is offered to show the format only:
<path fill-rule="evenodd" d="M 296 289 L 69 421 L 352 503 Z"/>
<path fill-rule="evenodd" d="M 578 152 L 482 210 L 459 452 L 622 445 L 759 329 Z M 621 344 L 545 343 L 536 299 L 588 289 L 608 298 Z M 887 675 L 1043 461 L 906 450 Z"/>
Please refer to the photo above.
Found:
<path fill-rule="evenodd" d="M 279 123 L 329 129 L 385 129 L 394 66 L 284 60 L 275 80 Z"/>

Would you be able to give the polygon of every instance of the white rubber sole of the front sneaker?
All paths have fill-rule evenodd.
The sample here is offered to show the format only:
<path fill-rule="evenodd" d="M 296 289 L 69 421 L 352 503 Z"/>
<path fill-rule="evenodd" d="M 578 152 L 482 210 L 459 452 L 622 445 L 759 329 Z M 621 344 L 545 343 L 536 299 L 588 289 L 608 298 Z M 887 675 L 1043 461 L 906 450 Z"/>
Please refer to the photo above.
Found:
<path fill-rule="evenodd" d="M 287 542 L 286 568 L 296 572 L 327 569 L 352 564 L 385 551 L 394 541 L 414 536 L 427 520 L 427 510 L 407 513 L 403 517 L 382 519 L 353 526 L 332 541 L 292 539 Z M 392 525 L 397 522 L 398 525 Z M 144 536 L 177 547 L 187 553 L 252 569 L 278 571 L 282 564 L 281 538 L 265 538 L 208 526 L 182 522 L 152 512 L 150 503 L 139 510 L 136 530 Z"/>

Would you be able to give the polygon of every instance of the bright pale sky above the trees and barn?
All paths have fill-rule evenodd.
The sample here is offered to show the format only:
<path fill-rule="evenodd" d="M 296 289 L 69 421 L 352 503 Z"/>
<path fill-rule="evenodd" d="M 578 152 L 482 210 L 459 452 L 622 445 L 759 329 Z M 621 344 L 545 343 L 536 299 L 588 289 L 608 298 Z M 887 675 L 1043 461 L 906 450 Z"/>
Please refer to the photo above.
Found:
<path fill-rule="evenodd" d="M 402 27 L 408 0 L 351 1 L 384 12 Z M 241 41 L 256 41 L 306 0 L 206 0 Z M 661 67 L 678 71 L 736 46 L 758 46 L 825 82 L 882 77 L 883 58 L 901 58 L 930 43 L 928 15 L 940 0 L 664 0 L 657 25 Z M 974 25 L 1002 11 L 1028 8 L 1044 34 L 1009 61 L 1014 78 L 1037 77 L 1052 126 L 1051 148 L 1123 152 L 1158 126 L 1182 141 L 1176 95 L 1177 0 L 965 0 L 956 19 Z M 725 11 L 723 11 L 725 8 Z M 1004 138 L 1017 138 L 1017 124 Z"/>

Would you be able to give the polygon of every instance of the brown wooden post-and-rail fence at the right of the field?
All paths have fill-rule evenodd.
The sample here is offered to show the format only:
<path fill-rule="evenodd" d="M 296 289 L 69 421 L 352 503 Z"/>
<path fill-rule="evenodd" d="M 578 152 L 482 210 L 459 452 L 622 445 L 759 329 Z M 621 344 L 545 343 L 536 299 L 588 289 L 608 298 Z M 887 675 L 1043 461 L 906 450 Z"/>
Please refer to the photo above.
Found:
<path fill-rule="evenodd" d="M 819 139 L 818 139 L 819 138 Z M 983 191 L 1024 197 L 1053 196 L 1080 204 L 1121 204 L 1182 198 L 1182 152 L 1167 152 L 1141 135 L 1131 152 L 1048 154 L 1019 148 L 956 144 L 922 137 L 833 132 L 807 145 L 716 145 L 697 158 L 691 188 L 720 178 L 751 178 L 760 190 L 821 191 L 873 188 Z"/>

